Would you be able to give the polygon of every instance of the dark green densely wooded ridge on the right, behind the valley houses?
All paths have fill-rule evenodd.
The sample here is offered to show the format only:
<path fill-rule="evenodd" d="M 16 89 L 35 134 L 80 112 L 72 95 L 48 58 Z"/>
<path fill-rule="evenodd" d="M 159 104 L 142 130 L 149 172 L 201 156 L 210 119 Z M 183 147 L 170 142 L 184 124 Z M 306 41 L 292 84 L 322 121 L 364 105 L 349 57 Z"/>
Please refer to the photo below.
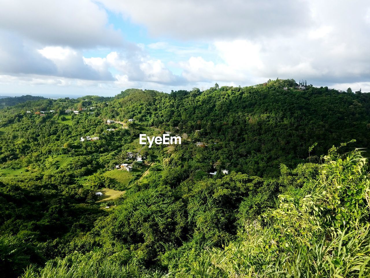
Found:
<path fill-rule="evenodd" d="M 102 116 L 134 118 L 147 126 L 187 133 L 192 140 L 209 143 L 209 160 L 244 173 L 276 175 L 280 163 L 305 161 L 314 143 L 311 155 L 318 156 L 351 139 L 361 147 L 370 143 L 366 93 L 315 87 L 283 90 L 271 82 L 170 95 L 137 89 L 121 94 L 125 97 L 116 96 Z"/>

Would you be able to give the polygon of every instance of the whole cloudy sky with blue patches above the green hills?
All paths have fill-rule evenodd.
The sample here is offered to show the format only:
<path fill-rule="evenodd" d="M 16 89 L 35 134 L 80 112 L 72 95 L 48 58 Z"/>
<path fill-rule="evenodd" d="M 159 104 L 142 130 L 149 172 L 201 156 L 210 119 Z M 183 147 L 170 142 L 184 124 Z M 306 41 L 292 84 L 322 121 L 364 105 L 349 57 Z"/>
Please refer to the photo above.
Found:
<path fill-rule="evenodd" d="M 0 95 L 268 79 L 370 92 L 367 0 L 0 0 Z"/>

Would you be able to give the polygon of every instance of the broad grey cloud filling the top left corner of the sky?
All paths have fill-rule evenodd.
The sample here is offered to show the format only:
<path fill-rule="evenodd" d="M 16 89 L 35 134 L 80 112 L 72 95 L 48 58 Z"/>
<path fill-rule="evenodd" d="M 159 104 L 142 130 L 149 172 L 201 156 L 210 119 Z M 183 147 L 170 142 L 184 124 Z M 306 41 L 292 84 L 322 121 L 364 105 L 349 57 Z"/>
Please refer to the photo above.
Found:
<path fill-rule="evenodd" d="M 122 46 L 106 11 L 90 0 L 0 0 L 0 29 L 48 46 Z"/>

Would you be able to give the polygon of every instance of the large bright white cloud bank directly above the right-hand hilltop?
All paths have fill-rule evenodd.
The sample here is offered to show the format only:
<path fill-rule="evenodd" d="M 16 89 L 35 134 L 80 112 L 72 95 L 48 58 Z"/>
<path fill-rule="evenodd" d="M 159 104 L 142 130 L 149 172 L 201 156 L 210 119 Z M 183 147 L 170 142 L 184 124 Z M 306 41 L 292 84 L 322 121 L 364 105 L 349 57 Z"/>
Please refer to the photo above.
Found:
<path fill-rule="evenodd" d="M 183 75 L 192 81 L 233 80 L 241 85 L 276 77 L 304 78 L 324 86 L 357 82 L 370 90 L 366 85 L 370 78 L 370 37 L 364 35 L 370 32 L 366 8 L 369 4 L 310 3 L 304 14 L 311 17 L 312 24 L 301 32 L 288 36 L 277 32 L 258 39 L 213 40 L 217 57 L 190 57 L 179 63 Z"/>

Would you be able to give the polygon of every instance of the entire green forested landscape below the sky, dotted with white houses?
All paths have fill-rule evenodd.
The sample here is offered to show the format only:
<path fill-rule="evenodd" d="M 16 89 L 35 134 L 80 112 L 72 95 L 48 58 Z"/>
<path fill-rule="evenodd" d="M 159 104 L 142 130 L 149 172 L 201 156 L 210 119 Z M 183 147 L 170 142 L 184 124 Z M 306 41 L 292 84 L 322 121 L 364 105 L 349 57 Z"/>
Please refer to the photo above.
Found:
<path fill-rule="evenodd" d="M 368 277 L 370 94 L 296 87 L 4 107 L 0 277 Z"/>

